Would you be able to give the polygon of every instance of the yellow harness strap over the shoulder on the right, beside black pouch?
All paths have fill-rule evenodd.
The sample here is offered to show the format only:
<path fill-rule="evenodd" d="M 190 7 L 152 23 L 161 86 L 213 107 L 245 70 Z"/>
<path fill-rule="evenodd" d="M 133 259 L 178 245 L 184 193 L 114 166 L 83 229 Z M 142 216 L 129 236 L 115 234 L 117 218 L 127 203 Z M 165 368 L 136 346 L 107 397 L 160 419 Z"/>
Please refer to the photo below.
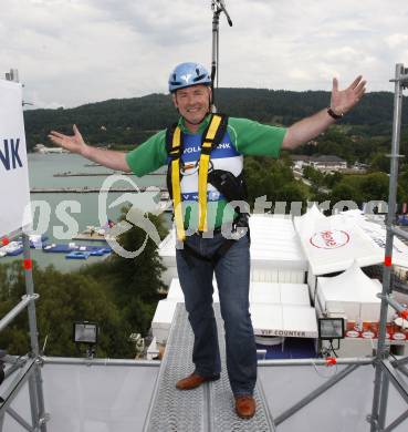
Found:
<path fill-rule="evenodd" d="M 207 134 L 201 145 L 201 155 L 198 171 L 198 202 L 199 202 L 199 225 L 200 232 L 207 230 L 207 177 L 210 162 L 210 153 L 213 138 L 216 137 L 218 127 L 222 117 L 213 114 Z"/>

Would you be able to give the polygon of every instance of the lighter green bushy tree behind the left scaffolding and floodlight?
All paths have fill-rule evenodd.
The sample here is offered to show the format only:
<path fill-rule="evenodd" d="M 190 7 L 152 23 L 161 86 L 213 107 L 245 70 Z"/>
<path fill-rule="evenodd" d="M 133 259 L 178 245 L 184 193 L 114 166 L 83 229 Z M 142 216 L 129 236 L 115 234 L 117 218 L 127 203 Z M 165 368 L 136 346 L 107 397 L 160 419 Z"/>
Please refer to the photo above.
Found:
<path fill-rule="evenodd" d="M 9 284 L 1 287 L 1 310 L 10 310 L 25 292 L 23 269 L 19 263 L 6 266 L 2 272 L 9 275 Z M 126 352 L 121 338 L 121 315 L 104 286 L 90 277 L 55 270 L 52 266 L 42 270 L 34 265 L 33 278 L 36 301 L 36 318 L 40 346 L 46 339 L 45 353 L 50 356 L 74 356 L 72 342 L 73 322 L 96 321 L 101 328 L 98 354 L 114 357 Z M 3 279 L 2 279 L 3 280 Z M 29 351 L 28 317 L 21 313 L 0 335 L 0 346 L 11 353 Z"/>

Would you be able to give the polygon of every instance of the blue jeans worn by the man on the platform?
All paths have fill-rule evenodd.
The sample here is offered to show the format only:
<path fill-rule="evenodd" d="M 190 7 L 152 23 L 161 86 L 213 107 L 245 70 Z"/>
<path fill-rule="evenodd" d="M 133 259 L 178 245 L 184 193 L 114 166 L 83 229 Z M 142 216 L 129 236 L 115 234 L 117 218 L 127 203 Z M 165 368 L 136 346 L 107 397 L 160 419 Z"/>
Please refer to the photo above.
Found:
<path fill-rule="evenodd" d="M 211 257 L 224 241 L 221 234 L 186 238 L 198 254 Z M 227 371 L 234 395 L 253 394 L 257 382 L 257 346 L 249 312 L 250 251 L 244 236 L 216 265 L 176 250 L 177 270 L 193 335 L 195 372 L 209 377 L 221 371 L 217 325 L 212 309 L 212 277 L 216 272 L 221 316 L 224 321 Z M 188 254 L 188 253 L 187 253 Z M 190 264 L 193 264 L 192 266 Z"/>

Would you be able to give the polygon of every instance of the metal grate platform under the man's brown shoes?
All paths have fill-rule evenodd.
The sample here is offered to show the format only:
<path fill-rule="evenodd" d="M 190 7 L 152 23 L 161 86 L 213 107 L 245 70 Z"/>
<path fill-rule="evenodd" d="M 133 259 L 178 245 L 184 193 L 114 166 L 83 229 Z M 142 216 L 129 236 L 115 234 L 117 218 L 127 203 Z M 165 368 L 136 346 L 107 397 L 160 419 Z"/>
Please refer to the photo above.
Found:
<path fill-rule="evenodd" d="M 250 420 L 241 420 L 236 414 L 234 400 L 227 374 L 224 331 L 219 305 L 215 305 L 215 312 L 222 361 L 221 379 L 195 390 L 179 391 L 176 389 L 176 382 L 193 370 L 192 330 L 185 305 L 177 305 L 144 432 L 275 431 L 260 381 L 254 392 L 257 414 Z"/>

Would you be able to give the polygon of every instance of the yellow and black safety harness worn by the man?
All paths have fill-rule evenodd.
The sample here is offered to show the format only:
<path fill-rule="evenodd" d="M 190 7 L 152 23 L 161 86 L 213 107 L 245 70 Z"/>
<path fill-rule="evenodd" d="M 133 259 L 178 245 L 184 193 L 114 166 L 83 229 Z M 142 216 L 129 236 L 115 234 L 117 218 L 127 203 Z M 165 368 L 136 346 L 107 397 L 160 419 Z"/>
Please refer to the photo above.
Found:
<path fill-rule="evenodd" d="M 224 114 L 211 114 L 208 126 L 202 133 L 201 152 L 198 171 L 198 206 L 199 206 L 199 233 L 208 230 L 207 226 L 207 186 L 211 183 L 217 189 L 226 196 L 227 200 L 245 198 L 245 187 L 243 176 L 236 177 L 232 173 L 221 169 L 213 169 L 209 173 L 210 154 L 222 141 L 228 126 L 228 116 Z M 180 158 L 182 154 L 182 132 L 178 123 L 172 124 L 166 131 L 166 147 L 169 155 L 167 171 L 167 188 L 172 198 L 174 217 L 176 222 L 177 239 L 185 241 L 186 232 L 182 217 L 182 199 L 181 199 L 181 176 L 180 176 Z M 236 195 L 236 196 L 231 196 Z M 230 198 L 229 198 L 230 196 Z M 241 225 L 248 227 L 248 217 L 240 214 Z M 242 220 L 245 220 L 242 223 Z M 196 258 L 217 261 L 227 250 L 233 245 L 234 239 L 226 239 L 219 250 L 216 251 L 212 258 L 203 257 L 193 249 L 184 244 L 184 249 L 188 249 L 190 255 Z"/>

